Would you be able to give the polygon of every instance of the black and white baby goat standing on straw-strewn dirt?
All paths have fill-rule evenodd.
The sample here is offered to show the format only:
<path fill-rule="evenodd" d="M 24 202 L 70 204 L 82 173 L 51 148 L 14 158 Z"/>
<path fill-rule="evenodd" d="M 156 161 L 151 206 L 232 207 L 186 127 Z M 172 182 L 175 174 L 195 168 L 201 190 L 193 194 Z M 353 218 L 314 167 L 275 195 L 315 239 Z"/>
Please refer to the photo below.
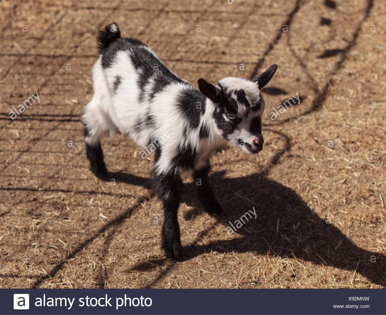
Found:
<path fill-rule="evenodd" d="M 277 65 L 251 81 L 226 77 L 213 85 L 199 79 L 197 90 L 166 68 L 145 44 L 121 38 L 117 24 L 100 30 L 97 40 L 95 93 L 82 115 L 91 171 L 101 178 L 107 175 L 100 145 L 106 132 L 112 136 L 119 130 L 139 146 L 153 144 L 152 184 L 164 208 L 162 247 L 166 257 L 179 259 L 181 172 L 190 171 L 195 181 L 201 180 L 197 188 L 203 208 L 220 215 L 208 181 L 210 156 L 225 142 L 247 154 L 261 151 L 265 103 L 259 89 L 271 80 Z M 166 132 L 169 142 L 160 140 Z"/>

